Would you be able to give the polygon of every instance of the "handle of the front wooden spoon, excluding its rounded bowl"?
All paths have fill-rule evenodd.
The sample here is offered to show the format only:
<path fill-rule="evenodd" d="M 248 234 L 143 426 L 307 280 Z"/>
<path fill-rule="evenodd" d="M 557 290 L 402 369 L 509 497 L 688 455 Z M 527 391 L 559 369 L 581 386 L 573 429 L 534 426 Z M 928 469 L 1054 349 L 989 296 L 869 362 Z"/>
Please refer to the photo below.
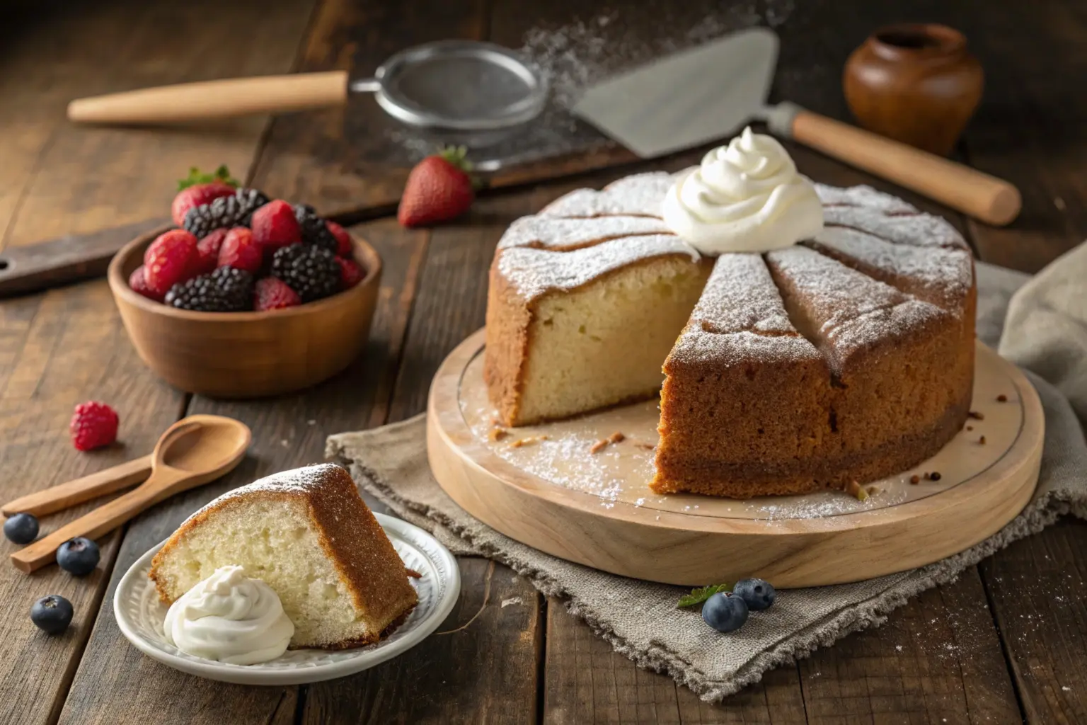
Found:
<path fill-rule="evenodd" d="M 55 561 L 57 547 L 68 539 L 77 536 L 97 539 L 103 534 L 112 532 L 141 511 L 167 498 L 178 479 L 186 477 L 185 475 L 178 476 L 180 473 L 168 467 L 157 471 L 142 486 L 118 496 L 87 515 L 80 516 L 61 526 L 52 534 L 20 549 L 11 555 L 11 563 L 15 565 L 15 568 L 29 574 Z"/>

